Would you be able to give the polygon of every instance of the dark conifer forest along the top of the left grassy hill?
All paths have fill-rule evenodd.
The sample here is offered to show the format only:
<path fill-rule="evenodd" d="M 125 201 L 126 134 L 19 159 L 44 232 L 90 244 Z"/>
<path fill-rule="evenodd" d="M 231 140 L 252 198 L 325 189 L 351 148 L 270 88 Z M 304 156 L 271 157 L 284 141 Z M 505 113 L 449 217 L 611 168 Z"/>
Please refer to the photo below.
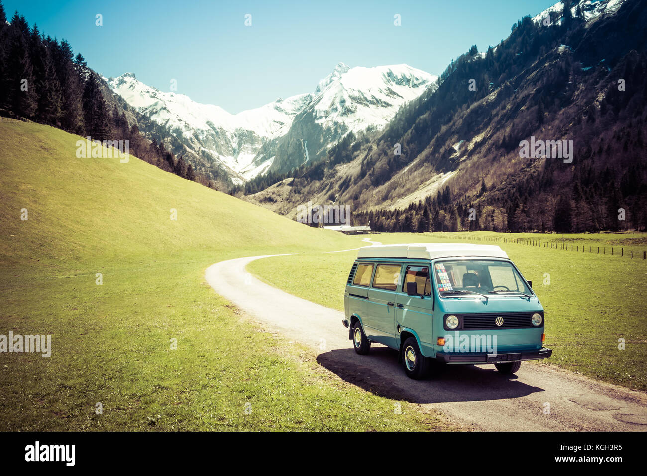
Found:
<path fill-rule="evenodd" d="M 102 80 L 71 45 L 44 36 L 18 12 L 7 24 L 0 1 L 0 115 L 47 124 L 98 141 L 129 141 L 129 152 L 162 170 L 214 187 L 193 166 L 148 141 L 126 114 L 109 106 Z"/>

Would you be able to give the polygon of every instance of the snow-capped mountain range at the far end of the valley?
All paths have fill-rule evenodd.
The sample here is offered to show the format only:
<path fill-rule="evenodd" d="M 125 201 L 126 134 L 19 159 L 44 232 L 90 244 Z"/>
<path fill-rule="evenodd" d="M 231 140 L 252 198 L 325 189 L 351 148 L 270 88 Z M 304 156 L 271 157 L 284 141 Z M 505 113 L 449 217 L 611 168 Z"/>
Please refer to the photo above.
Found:
<path fill-rule="evenodd" d="M 133 73 L 107 83 L 181 142 L 185 157 L 199 161 L 193 164 L 197 170 L 209 175 L 215 166 L 225 168 L 241 183 L 270 166 L 286 170 L 318 159 L 351 130 L 384 126 L 402 103 L 420 95 L 436 78 L 408 65 L 350 68 L 339 63 L 313 93 L 279 98 L 237 114 L 159 91 Z"/>

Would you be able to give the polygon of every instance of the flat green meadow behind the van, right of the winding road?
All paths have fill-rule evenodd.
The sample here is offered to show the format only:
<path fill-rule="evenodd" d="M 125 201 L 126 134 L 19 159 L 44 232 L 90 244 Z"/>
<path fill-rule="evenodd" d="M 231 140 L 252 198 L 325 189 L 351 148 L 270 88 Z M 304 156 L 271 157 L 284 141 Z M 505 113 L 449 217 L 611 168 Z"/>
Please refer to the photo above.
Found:
<path fill-rule="evenodd" d="M 557 234 L 381 233 L 371 238 L 384 244 L 471 242 L 501 246 L 524 277 L 532 281 L 545 308 L 546 345 L 554 351 L 549 363 L 626 387 L 647 389 L 647 302 L 643 295 L 647 260 L 642 260 L 647 234 L 564 235 L 564 242 L 573 244 L 574 249 L 579 246 L 581 251 L 585 245 L 586 253 L 503 242 L 504 238 L 523 238 L 554 240 L 557 245 L 562 240 Z M 494 239 L 500 241 L 490 241 Z M 633 259 L 628 257 L 627 246 L 631 244 L 642 245 L 630 246 Z M 589 246 L 594 254 L 588 253 Z M 605 246 L 607 255 L 602 255 Z M 613 256 L 609 255 L 611 246 L 615 247 Z M 624 257 L 618 255 L 620 246 L 625 247 Z M 355 256 L 356 251 L 323 258 L 317 253 L 279 256 L 252 262 L 248 269 L 285 291 L 344 310 L 345 283 Z M 318 271 L 319 267 L 323 271 Z M 625 339 L 624 350 L 618 348 L 620 337 Z"/>

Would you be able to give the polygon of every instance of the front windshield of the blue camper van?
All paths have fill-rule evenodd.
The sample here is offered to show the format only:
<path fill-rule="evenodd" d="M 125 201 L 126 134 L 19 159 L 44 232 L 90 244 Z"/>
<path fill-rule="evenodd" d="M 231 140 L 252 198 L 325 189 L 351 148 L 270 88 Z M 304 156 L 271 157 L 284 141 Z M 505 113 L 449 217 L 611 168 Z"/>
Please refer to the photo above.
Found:
<path fill-rule="evenodd" d="M 510 262 L 498 260 L 454 260 L 433 266 L 438 291 L 443 294 L 532 295 Z"/>

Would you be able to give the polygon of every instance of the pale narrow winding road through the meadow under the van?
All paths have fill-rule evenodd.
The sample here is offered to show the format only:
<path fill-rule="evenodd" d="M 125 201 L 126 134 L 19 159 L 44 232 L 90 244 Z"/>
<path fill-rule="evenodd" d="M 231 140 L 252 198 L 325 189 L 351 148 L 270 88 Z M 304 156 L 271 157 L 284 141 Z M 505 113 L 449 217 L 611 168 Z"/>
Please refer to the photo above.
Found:
<path fill-rule="evenodd" d="M 246 271 L 250 262 L 270 256 L 281 255 L 216 263 L 205 278 L 218 294 L 310 346 L 320 365 L 366 391 L 433 407 L 452 422 L 482 431 L 647 430 L 644 392 L 541 363 L 523 363 L 516 376 L 503 376 L 494 365 L 461 365 L 448 366 L 434 380 L 410 380 L 395 350 L 374 344 L 367 356 L 355 353 L 342 325 L 344 313 L 273 288 Z"/>

